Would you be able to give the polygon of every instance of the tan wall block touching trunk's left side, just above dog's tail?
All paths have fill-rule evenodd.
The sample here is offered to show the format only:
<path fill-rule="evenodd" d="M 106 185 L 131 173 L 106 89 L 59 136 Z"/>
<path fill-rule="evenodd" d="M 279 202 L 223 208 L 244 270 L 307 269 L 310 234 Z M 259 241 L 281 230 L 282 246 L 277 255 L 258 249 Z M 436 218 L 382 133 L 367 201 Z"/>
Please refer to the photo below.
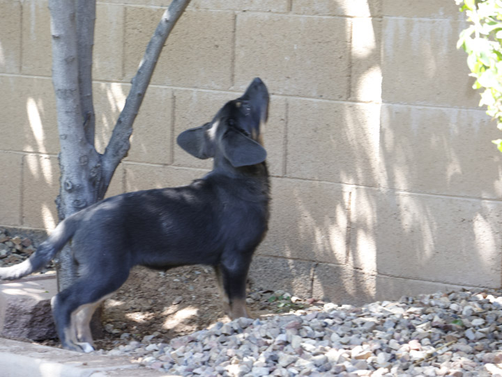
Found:
<path fill-rule="evenodd" d="M 58 223 L 59 163 L 56 157 L 28 154 L 23 166 L 22 225 L 54 229 Z"/>

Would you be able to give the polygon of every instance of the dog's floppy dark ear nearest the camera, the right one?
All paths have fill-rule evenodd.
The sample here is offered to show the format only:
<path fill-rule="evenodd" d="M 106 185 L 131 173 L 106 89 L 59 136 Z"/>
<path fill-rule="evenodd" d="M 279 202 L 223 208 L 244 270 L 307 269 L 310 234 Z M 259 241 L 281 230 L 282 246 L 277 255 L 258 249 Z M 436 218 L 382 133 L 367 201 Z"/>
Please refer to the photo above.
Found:
<path fill-rule="evenodd" d="M 229 129 L 223 135 L 222 152 L 235 168 L 255 165 L 266 159 L 264 147 L 235 129 Z"/>

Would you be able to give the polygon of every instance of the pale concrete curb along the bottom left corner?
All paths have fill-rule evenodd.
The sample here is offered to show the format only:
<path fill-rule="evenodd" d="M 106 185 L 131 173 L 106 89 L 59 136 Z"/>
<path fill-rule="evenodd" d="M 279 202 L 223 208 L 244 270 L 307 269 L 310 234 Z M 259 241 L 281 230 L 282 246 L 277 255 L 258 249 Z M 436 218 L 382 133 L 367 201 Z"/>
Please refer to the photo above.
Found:
<path fill-rule="evenodd" d="M 77 353 L 0 338 L 0 377 L 160 377 L 124 356 Z"/>

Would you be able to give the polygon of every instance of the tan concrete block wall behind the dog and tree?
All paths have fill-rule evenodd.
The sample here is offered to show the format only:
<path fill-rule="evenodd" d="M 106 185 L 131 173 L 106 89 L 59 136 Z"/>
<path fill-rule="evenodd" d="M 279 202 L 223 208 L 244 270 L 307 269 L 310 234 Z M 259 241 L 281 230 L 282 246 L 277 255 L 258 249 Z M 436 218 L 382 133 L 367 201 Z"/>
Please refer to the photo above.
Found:
<path fill-rule="evenodd" d="M 102 151 L 164 0 L 98 1 Z M 56 224 L 46 0 L 0 0 L 0 225 Z M 109 195 L 211 168 L 174 142 L 253 77 L 272 93 L 270 232 L 254 282 L 337 303 L 501 287 L 501 154 L 453 0 L 192 0 L 162 51 Z"/>

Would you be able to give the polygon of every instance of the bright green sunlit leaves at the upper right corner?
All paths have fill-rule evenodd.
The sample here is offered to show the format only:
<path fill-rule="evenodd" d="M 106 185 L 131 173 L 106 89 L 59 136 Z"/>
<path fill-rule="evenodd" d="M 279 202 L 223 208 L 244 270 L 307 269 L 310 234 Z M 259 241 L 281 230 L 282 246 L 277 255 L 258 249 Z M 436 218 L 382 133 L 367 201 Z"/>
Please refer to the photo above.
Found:
<path fill-rule="evenodd" d="M 474 89 L 483 89 L 479 106 L 502 130 L 502 0 L 455 0 L 472 24 L 457 42 L 469 56 L 470 76 L 476 77 Z M 502 152 L 502 139 L 494 140 Z"/>

